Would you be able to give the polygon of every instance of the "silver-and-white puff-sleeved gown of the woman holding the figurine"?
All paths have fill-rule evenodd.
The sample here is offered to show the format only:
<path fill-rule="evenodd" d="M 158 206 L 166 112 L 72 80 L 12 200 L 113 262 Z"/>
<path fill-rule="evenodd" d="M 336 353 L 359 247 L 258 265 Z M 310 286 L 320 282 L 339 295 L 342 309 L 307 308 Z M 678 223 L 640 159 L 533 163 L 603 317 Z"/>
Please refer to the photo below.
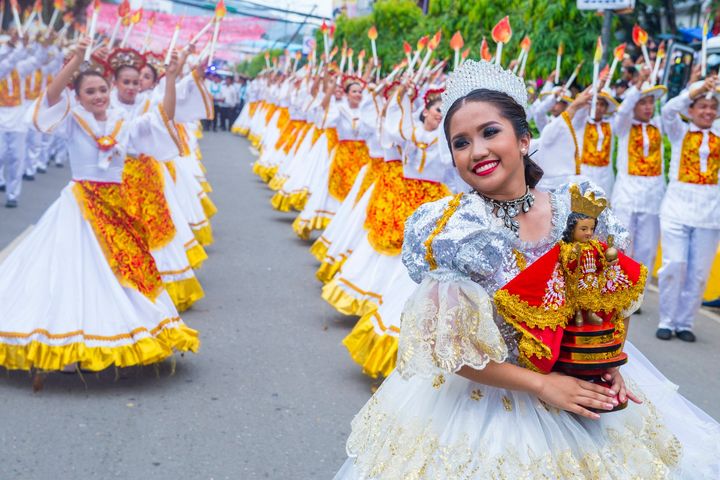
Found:
<path fill-rule="evenodd" d="M 551 194 L 551 233 L 527 243 L 479 196 L 455 198 L 427 203 L 408 220 L 403 262 L 421 283 L 403 311 L 398 367 L 352 421 L 349 458 L 335 478 L 718 478 L 720 426 L 630 343 L 621 371 L 644 403 L 599 420 L 455 374 L 491 361 L 517 365 L 517 334 L 492 295 L 517 275 L 519 255 L 532 263 L 557 242 L 570 208 L 567 187 Z M 626 245 L 627 232 L 606 210 L 597 235 L 608 234 Z"/>

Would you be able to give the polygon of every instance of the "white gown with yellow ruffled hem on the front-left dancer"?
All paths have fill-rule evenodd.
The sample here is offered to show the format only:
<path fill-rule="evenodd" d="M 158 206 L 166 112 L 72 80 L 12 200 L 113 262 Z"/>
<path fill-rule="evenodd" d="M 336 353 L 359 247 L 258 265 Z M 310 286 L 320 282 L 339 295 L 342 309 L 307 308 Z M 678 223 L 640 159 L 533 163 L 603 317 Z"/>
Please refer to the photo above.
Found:
<path fill-rule="evenodd" d="M 103 152 L 77 119 L 101 137 L 112 134 L 121 115 L 110 110 L 106 122 L 96 122 L 81 106 L 71 108 L 68 97 L 64 93 L 48 108 L 43 96 L 35 110 L 35 128 L 67 139 L 74 180 L 0 264 L 0 365 L 60 370 L 78 362 L 102 370 L 158 362 L 174 350 L 196 351 L 198 334 L 180 319 L 159 276 L 159 289 L 145 295 L 111 268 L 77 191 L 78 182 L 119 186 L 127 146 L 167 147 L 164 125 L 152 114 L 125 122 L 116 146 Z M 145 253 L 136 258 L 149 258 L 148 279 L 158 273 Z"/>

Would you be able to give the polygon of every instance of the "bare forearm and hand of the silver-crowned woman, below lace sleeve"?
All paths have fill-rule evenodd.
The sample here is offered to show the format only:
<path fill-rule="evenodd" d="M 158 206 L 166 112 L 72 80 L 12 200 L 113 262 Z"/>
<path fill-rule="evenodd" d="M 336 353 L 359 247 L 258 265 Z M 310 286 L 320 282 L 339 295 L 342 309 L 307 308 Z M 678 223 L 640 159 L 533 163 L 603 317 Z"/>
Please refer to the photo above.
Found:
<path fill-rule="evenodd" d="M 561 373 L 543 375 L 511 363 L 490 362 L 482 370 L 464 366 L 458 374 L 473 382 L 536 395 L 553 407 L 591 419 L 600 415 L 588 408 L 612 410 L 617 406 L 617 391 Z"/>

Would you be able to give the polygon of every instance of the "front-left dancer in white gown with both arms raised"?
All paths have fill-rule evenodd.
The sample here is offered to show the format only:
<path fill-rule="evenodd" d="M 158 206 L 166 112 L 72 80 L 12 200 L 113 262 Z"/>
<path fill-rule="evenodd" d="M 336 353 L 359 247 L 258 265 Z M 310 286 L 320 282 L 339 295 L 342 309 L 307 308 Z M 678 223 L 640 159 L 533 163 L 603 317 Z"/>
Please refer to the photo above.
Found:
<path fill-rule="evenodd" d="M 0 366 L 7 369 L 146 365 L 199 346 L 163 287 L 122 188 L 128 149 L 161 159 L 172 151 L 177 55 L 161 104 L 128 117 L 109 108 L 104 72 L 83 63 L 89 44 L 80 42 L 33 107 L 36 129 L 67 139 L 73 180 L 0 265 Z"/>

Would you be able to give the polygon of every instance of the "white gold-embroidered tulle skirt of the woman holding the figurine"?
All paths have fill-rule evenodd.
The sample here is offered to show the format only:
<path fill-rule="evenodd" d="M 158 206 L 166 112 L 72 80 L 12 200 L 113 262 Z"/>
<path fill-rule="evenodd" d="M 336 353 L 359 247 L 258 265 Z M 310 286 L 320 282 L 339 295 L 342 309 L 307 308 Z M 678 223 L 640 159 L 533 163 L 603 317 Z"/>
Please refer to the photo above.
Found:
<path fill-rule="evenodd" d="M 600 420 L 458 375 L 393 373 L 352 422 L 336 479 L 716 479 L 720 428 L 629 342 L 642 405 Z"/>

